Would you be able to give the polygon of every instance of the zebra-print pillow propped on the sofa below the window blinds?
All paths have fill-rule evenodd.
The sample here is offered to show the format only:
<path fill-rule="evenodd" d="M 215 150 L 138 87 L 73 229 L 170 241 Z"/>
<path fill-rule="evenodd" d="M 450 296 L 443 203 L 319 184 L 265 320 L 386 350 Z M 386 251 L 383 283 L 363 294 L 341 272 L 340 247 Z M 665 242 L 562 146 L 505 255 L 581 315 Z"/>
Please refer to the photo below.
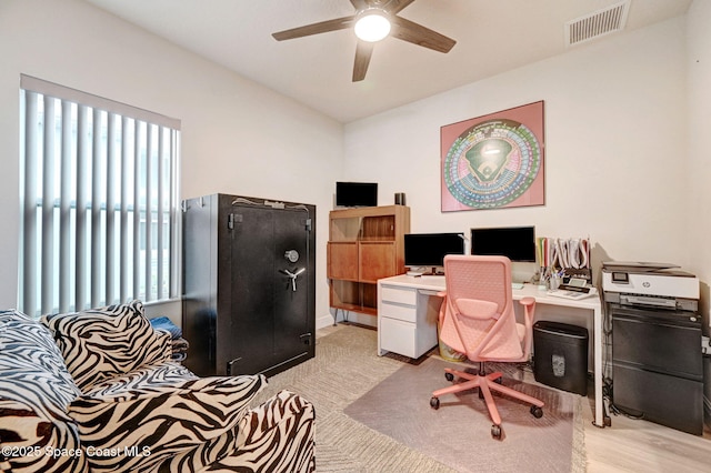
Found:
<path fill-rule="evenodd" d="M 54 334 L 82 392 L 117 374 L 170 359 L 170 335 L 153 330 L 140 301 L 43 315 L 41 322 Z"/>

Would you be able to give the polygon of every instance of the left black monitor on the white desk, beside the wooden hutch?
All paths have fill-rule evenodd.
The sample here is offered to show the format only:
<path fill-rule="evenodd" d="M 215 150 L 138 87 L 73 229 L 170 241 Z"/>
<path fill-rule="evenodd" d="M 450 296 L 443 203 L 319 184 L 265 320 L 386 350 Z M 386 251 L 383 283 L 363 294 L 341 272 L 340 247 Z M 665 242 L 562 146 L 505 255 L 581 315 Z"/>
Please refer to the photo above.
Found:
<path fill-rule="evenodd" d="M 447 254 L 464 254 L 464 233 L 408 233 L 404 235 L 404 265 L 438 268 Z"/>

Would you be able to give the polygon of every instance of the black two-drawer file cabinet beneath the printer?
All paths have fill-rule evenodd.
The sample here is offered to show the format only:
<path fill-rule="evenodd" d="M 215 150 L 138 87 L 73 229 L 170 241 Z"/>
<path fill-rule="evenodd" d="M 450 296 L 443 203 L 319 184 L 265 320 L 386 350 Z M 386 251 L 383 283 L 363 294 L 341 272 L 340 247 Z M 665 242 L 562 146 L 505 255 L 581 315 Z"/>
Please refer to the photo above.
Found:
<path fill-rule="evenodd" d="M 701 316 L 610 304 L 613 404 L 694 435 L 703 433 Z"/>

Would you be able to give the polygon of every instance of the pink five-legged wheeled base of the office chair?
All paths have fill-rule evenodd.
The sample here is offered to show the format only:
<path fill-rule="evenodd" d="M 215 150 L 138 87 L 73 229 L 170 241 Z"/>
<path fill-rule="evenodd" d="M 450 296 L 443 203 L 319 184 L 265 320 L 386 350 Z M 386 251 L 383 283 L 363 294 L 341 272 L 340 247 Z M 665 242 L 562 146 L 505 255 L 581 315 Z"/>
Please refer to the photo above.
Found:
<path fill-rule="evenodd" d="M 451 376 L 458 376 L 467 381 L 434 391 L 432 393 L 432 399 L 430 400 L 430 405 L 434 409 L 438 409 L 440 396 L 479 388 L 480 396 L 483 396 L 484 401 L 487 402 L 487 409 L 489 410 L 489 415 L 491 416 L 491 421 L 493 422 L 491 433 L 494 437 L 501 437 L 501 415 L 499 414 L 497 404 L 494 403 L 493 396 L 491 395 L 492 391 L 531 404 L 531 414 L 533 414 L 533 416 L 535 416 L 537 419 L 543 415 L 543 411 L 541 410 L 541 407 L 543 407 L 544 405 L 543 401 L 502 385 L 502 373 L 494 372 L 485 374 L 483 372 L 483 364 L 481 365 L 479 373 L 475 374 L 468 373 L 465 371 L 453 370 L 451 368 L 445 368 L 444 372 L 447 379 L 450 381 L 453 379 Z"/>

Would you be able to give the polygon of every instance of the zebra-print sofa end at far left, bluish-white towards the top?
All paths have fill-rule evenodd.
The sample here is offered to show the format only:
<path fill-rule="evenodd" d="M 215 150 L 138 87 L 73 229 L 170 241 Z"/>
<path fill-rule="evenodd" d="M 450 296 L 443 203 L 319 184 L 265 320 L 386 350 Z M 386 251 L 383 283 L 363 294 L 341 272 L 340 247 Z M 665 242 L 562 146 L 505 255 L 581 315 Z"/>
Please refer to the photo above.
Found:
<path fill-rule="evenodd" d="M 0 471 L 86 471 L 67 414 L 79 394 L 49 330 L 20 312 L 0 312 Z"/>

